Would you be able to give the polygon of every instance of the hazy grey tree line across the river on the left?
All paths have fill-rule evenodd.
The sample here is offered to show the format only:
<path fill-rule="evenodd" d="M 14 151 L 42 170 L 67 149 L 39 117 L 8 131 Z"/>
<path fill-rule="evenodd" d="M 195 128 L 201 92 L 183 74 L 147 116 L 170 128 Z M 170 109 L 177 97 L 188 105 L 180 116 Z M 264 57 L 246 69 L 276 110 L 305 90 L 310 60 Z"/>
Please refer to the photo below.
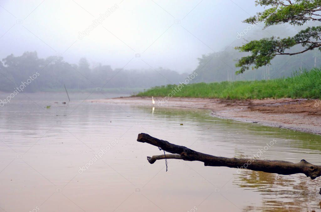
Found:
<path fill-rule="evenodd" d="M 39 77 L 24 91 L 56 91 L 68 89 L 83 91 L 92 88 L 128 88 L 128 90 L 150 88 L 167 84 L 178 84 L 186 74 L 169 69 L 123 70 L 112 69 L 109 65 L 98 64 L 90 67 L 85 58 L 78 64 L 71 64 L 62 57 L 38 58 L 37 52 L 13 54 L 0 61 L 0 91 L 12 92 L 15 87 L 39 72 Z"/>

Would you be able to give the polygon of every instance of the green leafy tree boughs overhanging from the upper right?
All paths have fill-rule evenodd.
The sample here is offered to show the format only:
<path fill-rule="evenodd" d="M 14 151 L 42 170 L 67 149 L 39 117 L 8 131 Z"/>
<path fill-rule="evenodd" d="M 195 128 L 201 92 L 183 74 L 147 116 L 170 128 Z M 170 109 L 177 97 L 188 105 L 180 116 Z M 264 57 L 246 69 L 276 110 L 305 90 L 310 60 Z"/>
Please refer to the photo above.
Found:
<path fill-rule="evenodd" d="M 321 0 L 256 0 L 256 6 L 269 7 L 258 12 L 243 22 L 249 24 L 264 23 L 265 28 L 289 23 L 302 26 L 310 21 L 321 21 Z M 253 40 L 245 45 L 236 47 L 240 52 L 250 52 L 249 56 L 242 57 L 236 63 L 240 69 L 237 74 L 243 73 L 253 64 L 253 68 L 270 64 L 276 55 L 295 55 L 318 48 L 321 51 L 321 26 L 307 27 L 293 37 L 269 37 Z M 286 52 L 291 47 L 301 45 L 304 49 L 296 52 Z"/>

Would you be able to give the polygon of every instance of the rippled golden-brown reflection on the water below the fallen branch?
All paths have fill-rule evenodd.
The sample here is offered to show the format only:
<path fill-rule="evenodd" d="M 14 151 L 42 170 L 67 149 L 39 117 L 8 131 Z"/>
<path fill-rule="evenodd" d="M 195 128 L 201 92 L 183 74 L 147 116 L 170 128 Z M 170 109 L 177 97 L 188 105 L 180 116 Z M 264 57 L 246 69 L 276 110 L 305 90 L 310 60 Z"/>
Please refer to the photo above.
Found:
<path fill-rule="evenodd" d="M 241 188 L 259 192 L 262 197 L 263 206 L 247 206 L 244 211 L 300 211 L 320 207 L 320 180 L 308 181 L 305 176 L 246 171 L 235 178 L 233 183 Z"/>

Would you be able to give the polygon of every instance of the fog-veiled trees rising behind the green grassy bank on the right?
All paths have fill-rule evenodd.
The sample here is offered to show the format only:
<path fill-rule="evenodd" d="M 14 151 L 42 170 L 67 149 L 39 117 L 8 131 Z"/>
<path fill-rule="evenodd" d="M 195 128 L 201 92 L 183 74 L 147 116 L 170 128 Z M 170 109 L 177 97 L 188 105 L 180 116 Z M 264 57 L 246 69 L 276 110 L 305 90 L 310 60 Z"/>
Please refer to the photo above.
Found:
<path fill-rule="evenodd" d="M 311 25 L 313 26 L 313 25 Z M 242 45 L 244 42 L 260 37 L 278 35 L 287 37 L 291 32 L 297 33 L 300 29 L 291 26 L 273 26 L 272 28 L 262 30 L 262 26 L 251 26 L 253 29 L 249 35 L 241 37 L 240 33 L 236 34 L 236 41 L 232 45 L 226 47 L 222 51 L 213 52 L 203 55 L 198 58 L 199 65 L 195 69 L 198 77 L 193 80 L 196 82 L 221 82 L 221 81 L 236 81 L 236 80 L 261 80 L 273 79 L 281 77 L 289 77 L 303 69 L 310 70 L 314 67 L 321 66 L 321 52 L 318 49 L 307 51 L 296 55 L 279 55 L 271 60 L 270 65 L 259 67 L 258 69 L 249 69 L 242 74 L 236 75 L 239 68 L 235 64 L 242 57 L 250 55 L 250 53 L 239 52 L 235 50 L 235 46 Z M 293 52 L 301 51 L 302 46 L 294 46 L 290 50 Z"/>

